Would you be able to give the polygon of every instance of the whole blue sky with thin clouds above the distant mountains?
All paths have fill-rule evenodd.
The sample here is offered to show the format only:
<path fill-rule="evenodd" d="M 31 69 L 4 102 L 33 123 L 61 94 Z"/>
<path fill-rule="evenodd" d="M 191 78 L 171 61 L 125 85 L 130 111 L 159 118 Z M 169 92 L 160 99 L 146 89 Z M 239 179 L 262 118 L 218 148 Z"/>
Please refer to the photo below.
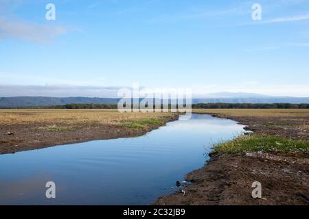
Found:
<path fill-rule="evenodd" d="M 0 0 L 0 96 L 133 83 L 309 96 L 309 0 Z"/>

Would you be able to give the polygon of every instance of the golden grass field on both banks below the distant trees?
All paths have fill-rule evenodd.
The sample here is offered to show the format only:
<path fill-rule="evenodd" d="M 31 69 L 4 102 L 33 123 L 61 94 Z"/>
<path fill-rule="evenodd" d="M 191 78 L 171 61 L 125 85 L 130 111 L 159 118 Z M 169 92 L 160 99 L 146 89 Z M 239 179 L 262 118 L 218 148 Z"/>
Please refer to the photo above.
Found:
<path fill-rule="evenodd" d="M 221 117 L 254 117 L 264 120 L 278 118 L 280 123 L 284 123 L 284 120 L 297 120 L 297 124 L 302 123 L 302 127 L 309 129 L 308 109 L 198 109 L 193 112 L 216 114 Z M 171 113 L 119 113 L 117 110 L 0 110 L 0 125 L 32 123 L 119 125 L 150 118 L 166 118 L 170 115 Z"/>

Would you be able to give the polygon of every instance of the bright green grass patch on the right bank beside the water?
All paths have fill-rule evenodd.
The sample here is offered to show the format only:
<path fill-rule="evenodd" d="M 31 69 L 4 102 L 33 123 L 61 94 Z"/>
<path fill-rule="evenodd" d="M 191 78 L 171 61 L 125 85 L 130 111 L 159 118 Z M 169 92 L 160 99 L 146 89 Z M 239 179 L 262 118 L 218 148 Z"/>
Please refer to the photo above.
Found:
<path fill-rule="evenodd" d="M 276 136 L 240 136 L 214 146 L 214 153 L 239 154 L 247 152 L 309 153 L 309 141 L 292 140 Z"/>

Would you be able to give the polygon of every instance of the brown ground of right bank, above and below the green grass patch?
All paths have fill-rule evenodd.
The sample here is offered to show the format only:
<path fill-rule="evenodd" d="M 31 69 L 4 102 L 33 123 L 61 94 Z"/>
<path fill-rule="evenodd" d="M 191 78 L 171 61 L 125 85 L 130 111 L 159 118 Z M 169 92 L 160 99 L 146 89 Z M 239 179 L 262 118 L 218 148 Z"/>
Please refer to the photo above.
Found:
<path fill-rule="evenodd" d="M 309 139 L 306 111 L 246 112 L 206 110 L 220 118 L 231 118 L 255 133 L 283 138 Z M 295 116 L 297 114 L 297 116 Z M 246 153 L 213 155 L 198 170 L 190 172 L 185 196 L 175 194 L 159 198 L 153 205 L 309 205 L 309 155 L 282 153 Z M 262 198 L 253 198 L 252 183 L 262 184 Z"/>

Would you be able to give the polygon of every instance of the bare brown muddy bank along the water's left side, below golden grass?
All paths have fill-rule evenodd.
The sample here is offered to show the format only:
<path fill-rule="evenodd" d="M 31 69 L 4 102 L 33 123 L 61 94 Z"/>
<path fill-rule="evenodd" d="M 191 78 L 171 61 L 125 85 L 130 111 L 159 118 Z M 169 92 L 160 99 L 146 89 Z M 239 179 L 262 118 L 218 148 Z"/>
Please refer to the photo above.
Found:
<path fill-rule="evenodd" d="M 179 115 L 164 118 L 165 123 L 177 120 Z M 74 144 L 90 140 L 130 138 L 159 128 L 161 125 L 148 125 L 145 129 L 132 129 L 124 125 L 98 125 L 80 123 L 71 131 L 47 131 L 44 127 L 56 125 L 65 127 L 65 123 L 36 123 L 0 125 L 0 154 L 16 153 L 33 149 L 43 149 L 60 144 Z"/>

